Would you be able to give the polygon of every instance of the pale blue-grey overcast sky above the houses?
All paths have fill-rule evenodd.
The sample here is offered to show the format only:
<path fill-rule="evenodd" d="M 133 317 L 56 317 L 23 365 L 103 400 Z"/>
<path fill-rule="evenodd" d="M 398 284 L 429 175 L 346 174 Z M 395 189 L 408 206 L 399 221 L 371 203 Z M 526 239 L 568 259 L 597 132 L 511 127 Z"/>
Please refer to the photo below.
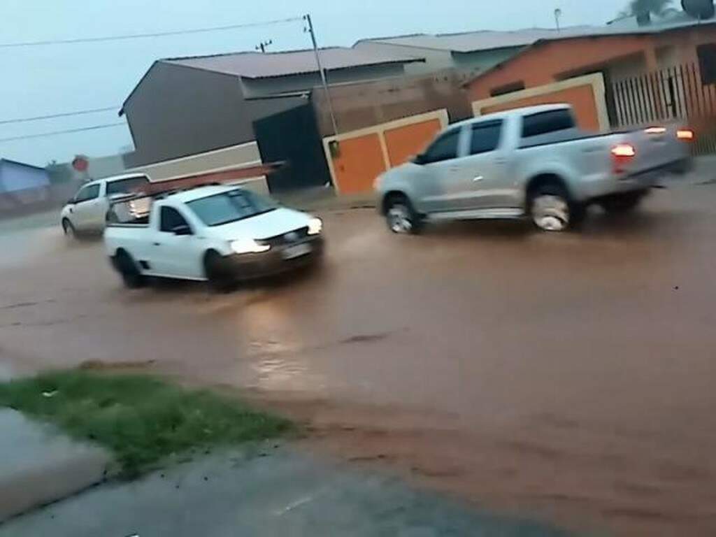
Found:
<path fill-rule="evenodd" d="M 310 13 L 319 46 L 412 33 L 604 24 L 627 0 L 1 0 L 0 45 L 52 39 L 168 32 L 286 19 Z M 205 34 L 112 42 L 0 46 L 0 139 L 122 122 L 117 110 L 155 59 L 310 47 L 301 21 Z M 115 110 L 53 120 L 4 120 L 77 110 Z M 74 155 L 114 155 L 132 147 L 126 126 L 0 141 L 0 158 L 46 165 Z"/>

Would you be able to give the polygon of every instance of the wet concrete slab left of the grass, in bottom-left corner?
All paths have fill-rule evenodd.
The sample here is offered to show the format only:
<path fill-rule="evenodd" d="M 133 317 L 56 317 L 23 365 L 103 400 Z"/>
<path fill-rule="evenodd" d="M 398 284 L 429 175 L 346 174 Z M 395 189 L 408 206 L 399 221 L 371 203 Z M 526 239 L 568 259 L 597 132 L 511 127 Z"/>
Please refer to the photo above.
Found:
<path fill-rule="evenodd" d="M 0 410 L 0 522 L 105 479 L 112 457 Z"/>

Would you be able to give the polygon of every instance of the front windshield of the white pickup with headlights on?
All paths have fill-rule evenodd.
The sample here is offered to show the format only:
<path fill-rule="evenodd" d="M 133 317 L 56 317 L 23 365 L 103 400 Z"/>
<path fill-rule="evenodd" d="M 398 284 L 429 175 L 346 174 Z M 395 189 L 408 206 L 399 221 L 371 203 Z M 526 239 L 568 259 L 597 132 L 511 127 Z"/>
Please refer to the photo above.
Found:
<path fill-rule="evenodd" d="M 271 198 L 264 198 L 241 188 L 190 201 L 187 205 L 200 221 L 210 227 L 251 218 L 279 208 L 279 204 Z"/>

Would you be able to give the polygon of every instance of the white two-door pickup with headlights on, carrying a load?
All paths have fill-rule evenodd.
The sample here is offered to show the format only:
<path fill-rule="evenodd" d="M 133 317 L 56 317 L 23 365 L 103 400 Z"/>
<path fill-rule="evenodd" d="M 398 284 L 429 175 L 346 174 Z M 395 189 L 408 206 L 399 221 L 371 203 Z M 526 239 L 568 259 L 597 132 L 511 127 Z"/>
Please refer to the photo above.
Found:
<path fill-rule="evenodd" d="M 208 281 L 223 290 L 237 279 L 286 271 L 323 253 L 319 218 L 229 185 L 115 200 L 105 248 L 128 287 L 146 276 Z"/>

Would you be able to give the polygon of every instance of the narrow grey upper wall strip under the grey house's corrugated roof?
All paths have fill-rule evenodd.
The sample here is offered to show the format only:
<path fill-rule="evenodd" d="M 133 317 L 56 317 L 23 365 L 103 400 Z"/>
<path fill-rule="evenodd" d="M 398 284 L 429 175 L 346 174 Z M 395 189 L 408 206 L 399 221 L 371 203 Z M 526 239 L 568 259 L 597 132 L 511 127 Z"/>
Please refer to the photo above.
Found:
<path fill-rule="evenodd" d="M 398 77 L 402 74 L 405 74 L 403 64 L 382 64 L 329 70 L 326 72 L 326 78 L 329 84 L 343 84 L 345 82 Z M 241 82 L 246 97 L 264 97 L 266 95 L 303 91 L 320 86 L 321 76 L 316 72 L 293 74 L 285 77 L 242 78 Z"/>

